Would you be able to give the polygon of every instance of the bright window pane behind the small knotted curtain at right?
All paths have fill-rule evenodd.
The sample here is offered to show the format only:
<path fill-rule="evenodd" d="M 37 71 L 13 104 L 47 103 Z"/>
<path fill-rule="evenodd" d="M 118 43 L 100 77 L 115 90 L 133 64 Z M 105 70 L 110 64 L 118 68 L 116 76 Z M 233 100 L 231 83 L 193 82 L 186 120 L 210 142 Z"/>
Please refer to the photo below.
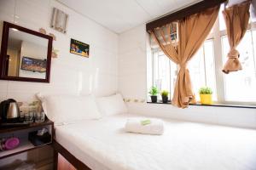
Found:
<path fill-rule="evenodd" d="M 254 35 L 254 37 L 252 37 Z M 256 101 L 255 55 L 253 55 L 253 38 L 255 31 L 247 31 L 237 50 L 240 52 L 241 71 L 224 75 L 225 100 L 227 101 Z M 254 42 L 255 43 L 255 42 Z M 228 37 L 222 37 L 224 63 L 230 50 Z"/>

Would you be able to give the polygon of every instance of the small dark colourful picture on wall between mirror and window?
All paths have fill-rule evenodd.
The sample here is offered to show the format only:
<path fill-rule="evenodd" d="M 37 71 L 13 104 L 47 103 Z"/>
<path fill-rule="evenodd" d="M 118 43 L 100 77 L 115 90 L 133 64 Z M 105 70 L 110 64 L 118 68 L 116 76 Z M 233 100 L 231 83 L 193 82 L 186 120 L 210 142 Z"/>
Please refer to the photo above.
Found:
<path fill-rule="evenodd" d="M 84 42 L 79 42 L 78 40 L 74 40 L 71 38 L 70 41 L 70 53 L 78 54 L 83 57 L 89 57 L 89 44 Z"/>

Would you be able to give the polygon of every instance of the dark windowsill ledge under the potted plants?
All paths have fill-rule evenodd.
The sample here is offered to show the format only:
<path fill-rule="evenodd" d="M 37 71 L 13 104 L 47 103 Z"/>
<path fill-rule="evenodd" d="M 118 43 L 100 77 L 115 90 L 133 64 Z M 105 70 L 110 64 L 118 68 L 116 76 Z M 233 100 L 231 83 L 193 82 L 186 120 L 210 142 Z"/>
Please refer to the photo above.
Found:
<path fill-rule="evenodd" d="M 152 103 L 151 101 L 147 102 L 148 104 L 163 104 L 163 105 L 171 105 L 171 102 L 166 104 L 157 101 L 157 103 Z M 247 108 L 247 109 L 256 109 L 256 105 L 227 105 L 227 104 L 212 104 L 212 105 L 201 105 L 200 103 L 196 104 L 189 104 L 189 105 L 196 105 L 196 106 L 212 106 L 212 107 L 234 107 L 234 108 Z"/>

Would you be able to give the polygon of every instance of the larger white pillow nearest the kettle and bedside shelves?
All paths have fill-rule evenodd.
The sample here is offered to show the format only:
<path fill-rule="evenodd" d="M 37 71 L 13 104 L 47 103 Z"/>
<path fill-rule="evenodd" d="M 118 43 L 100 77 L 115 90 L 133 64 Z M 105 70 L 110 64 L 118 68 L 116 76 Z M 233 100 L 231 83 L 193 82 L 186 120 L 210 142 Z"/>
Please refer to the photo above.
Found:
<path fill-rule="evenodd" d="M 56 125 L 101 118 L 96 101 L 91 95 L 37 96 L 42 101 L 45 114 Z"/>

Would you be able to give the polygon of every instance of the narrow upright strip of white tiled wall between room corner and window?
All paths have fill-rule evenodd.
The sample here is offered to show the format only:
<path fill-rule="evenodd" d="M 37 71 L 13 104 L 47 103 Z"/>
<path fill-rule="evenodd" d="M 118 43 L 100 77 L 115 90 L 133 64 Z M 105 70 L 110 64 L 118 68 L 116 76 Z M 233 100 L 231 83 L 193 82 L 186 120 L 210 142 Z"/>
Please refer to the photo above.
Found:
<path fill-rule="evenodd" d="M 119 35 L 119 91 L 125 98 L 146 98 L 146 36 L 145 26 Z"/>

